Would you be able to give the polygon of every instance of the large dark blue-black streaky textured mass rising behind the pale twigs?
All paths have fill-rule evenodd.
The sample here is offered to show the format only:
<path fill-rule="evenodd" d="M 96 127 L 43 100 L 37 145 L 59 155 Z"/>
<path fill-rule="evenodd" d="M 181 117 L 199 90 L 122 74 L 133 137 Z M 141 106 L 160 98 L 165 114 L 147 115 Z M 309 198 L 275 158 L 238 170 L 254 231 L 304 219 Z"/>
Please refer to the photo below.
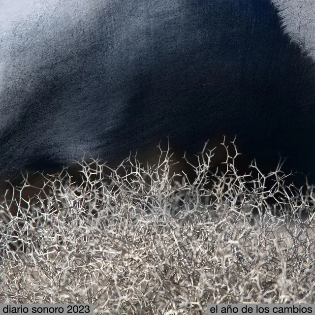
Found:
<path fill-rule="evenodd" d="M 0 177 L 223 134 L 312 172 L 315 7 L 280 1 L 1 0 Z"/>

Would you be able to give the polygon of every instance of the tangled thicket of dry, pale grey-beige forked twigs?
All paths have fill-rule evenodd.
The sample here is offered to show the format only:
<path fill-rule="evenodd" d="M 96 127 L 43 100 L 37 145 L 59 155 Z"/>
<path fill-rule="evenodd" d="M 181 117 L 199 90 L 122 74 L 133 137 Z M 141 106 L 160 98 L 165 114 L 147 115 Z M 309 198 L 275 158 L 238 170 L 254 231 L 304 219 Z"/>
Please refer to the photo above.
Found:
<path fill-rule="evenodd" d="M 193 185 L 170 176 L 168 155 L 110 172 L 81 163 L 82 182 L 66 170 L 46 175 L 29 203 L 17 189 L 17 216 L 1 205 L 0 302 L 168 315 L 206 314 L 207 303 L 314 303 L 313 188 L 285 186 L 280 169 L 239 175 L 235 156 L 209 177 L 211 155 Z"/>

